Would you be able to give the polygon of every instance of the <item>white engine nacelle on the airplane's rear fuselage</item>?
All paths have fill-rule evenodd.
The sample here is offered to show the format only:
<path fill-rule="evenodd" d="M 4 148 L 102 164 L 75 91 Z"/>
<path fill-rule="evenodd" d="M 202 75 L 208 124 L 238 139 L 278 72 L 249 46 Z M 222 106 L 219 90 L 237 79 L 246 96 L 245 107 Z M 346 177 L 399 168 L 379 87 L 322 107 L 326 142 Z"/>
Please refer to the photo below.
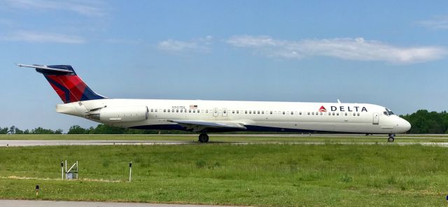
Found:
<path fill-rule="evenodd" d="M 105 122 L 139 122 L 148 119 L 147 106 L 104 107 L 91 111 L 87 118 Z"/>

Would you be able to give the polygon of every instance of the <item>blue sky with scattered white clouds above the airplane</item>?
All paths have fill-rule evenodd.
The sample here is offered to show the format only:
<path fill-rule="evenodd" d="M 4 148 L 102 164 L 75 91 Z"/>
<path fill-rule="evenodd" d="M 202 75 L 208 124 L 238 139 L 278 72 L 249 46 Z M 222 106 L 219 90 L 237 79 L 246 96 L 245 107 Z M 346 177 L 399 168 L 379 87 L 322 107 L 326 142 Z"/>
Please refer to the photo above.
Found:
<path fill-rule="evenodd" d="M 374 103 L 448 109 L 448 1 L 0 0 L 0 127 L 55 112 L 21 64 L 69 64 L 110 98 Z"/>

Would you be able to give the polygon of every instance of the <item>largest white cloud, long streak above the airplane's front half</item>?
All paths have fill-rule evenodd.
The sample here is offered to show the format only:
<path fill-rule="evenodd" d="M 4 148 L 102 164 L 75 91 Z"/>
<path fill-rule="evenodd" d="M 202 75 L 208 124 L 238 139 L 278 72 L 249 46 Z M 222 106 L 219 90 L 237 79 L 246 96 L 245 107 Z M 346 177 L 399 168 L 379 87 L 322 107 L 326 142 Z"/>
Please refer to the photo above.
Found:
<path fill-rule="evenodd" d="M 303 39 L 285 41 L 269 36 L 232 36 L 227 41 L 238 48 L 249 48 L 269 57 L 301 59 L 327 56 L 358 61 L 411 64 L 440 59 L 447 50 L 439 47 L 398 47 L 363 38 Z"/>

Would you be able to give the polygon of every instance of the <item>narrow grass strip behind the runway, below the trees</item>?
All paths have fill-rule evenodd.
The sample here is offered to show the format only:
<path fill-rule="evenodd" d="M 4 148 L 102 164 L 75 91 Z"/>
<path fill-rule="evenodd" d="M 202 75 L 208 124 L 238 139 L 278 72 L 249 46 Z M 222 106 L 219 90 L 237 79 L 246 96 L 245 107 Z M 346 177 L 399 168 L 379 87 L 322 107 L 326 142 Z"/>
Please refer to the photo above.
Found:
<path fill-rule="evenodd" d="M 346 143 L 346 142 L 381 142 L 385 143 L 387 141 L 387 135 L 382 136 L 288 136 L 288 135 L 277 135 L 277 136 L 225 136 L 221 134 L 210 134 L 211 142 L 239 142 L 239 141 L 250 141 L 250 142 L 322 142 L 322 143 Z M 332 137 L 329 137 L 332 136 Z M 448 142 L 448 136 L 437 135 L 431 136 L 433 138 L 427 138 L 425 135 L 419 135 L 409 138 L 406 134 L 400 134 L 395 137 L 395 142 Z M 421 137 L 421 138 L 420 138 Z M 197 141 L 197 135 L 193 134 L 190 136 L 186 135 L 113 135 L 113 134 L 102 134 L 102 135 L 92 135 L 92 134 L 28 134 L 28 135 L 0 135 L 0 140 L 116 140 L 116 141 Z"/>

